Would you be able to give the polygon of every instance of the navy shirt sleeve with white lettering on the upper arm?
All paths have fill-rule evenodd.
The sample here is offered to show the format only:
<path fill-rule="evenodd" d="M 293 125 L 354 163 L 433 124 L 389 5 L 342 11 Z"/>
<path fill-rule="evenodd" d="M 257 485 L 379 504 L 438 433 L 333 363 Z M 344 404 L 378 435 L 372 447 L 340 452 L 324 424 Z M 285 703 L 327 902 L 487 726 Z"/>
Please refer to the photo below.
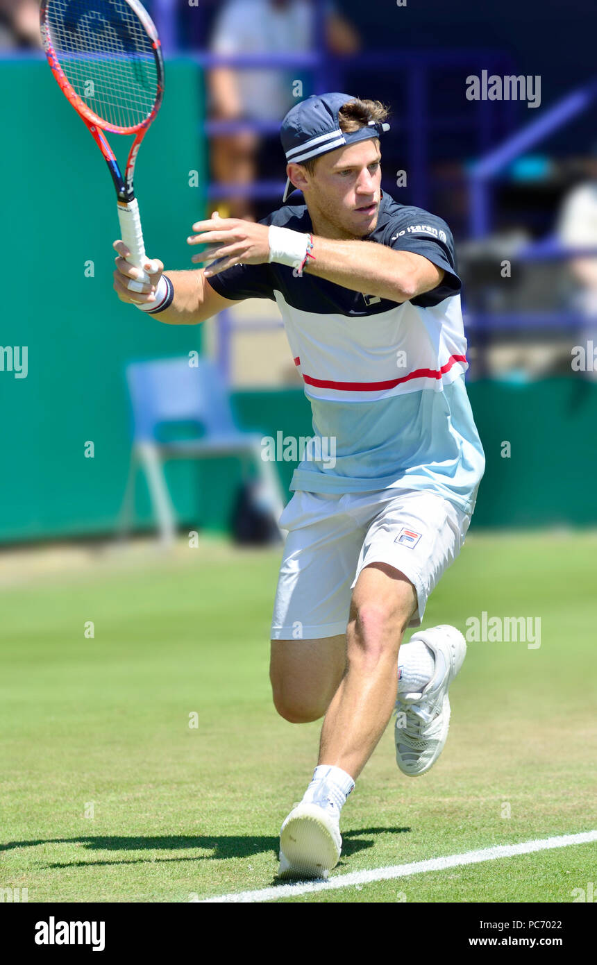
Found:
<path fill-rule="evenodd" d="M 393 216 L 386 228 L 384 243 L 396 251 L 412 251 L 429 262 L 443 268 L 444 278 L 437 288 L 413 298 L 415 305 L 424 302 L 425 307 L 437 305 L 461 289 L 456 271 L 454 241 L 448 225 L 442 218 L 418 208 L 403 208 Z"/>

